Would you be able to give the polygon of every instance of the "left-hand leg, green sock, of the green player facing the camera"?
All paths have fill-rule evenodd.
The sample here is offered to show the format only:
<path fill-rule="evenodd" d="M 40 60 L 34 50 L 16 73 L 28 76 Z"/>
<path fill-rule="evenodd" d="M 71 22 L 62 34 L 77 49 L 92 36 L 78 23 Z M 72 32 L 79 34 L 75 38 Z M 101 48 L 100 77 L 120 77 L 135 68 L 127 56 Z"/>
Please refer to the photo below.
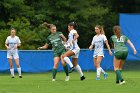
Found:
<path fill-rule="evenodd" d="M 54 66 L 53 66 L 53 70 L 52 70 L 52 81 L 55 81 L 59 62 L 60 62 L 60 57 L 54 57 Z"/>

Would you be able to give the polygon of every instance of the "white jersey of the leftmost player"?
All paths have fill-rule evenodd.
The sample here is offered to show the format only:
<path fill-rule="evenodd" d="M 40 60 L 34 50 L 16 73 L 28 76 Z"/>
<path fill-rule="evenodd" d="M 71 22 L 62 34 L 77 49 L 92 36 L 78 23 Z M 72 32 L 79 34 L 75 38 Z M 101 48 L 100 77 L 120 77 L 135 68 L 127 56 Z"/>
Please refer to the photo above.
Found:
<path fill-rule="evenodd" d="M 20 44 L 21 41 L 18 36 L 15 36 L 15 37 L 8 36 L 5 43 L 9 46 L 10 50 L 14 51 L 14 50 L 17 50 L 17 49 L 14 49 L 14 46 L 16 44 Z"/>

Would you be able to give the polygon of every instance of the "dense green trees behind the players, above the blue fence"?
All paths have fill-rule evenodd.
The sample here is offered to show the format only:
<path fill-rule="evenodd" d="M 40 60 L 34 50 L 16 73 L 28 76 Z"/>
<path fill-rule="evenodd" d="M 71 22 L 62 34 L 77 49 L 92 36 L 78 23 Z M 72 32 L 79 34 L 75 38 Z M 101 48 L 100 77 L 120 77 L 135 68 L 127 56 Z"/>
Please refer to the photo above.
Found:
<path fill-rule="evenodd" d="M 119 24 L 119 11 L 123 7 L 120 2 L 120 0 L 1 0 L 0 48 L 5 49 L 4 42 L 12 27 L 17 29 L 17 35 L 21 38 L 21 49 L 36 49 L 43 45 L 49 35 L 49 30 L 42 26 L 44 21 L 55 24 L 58 31 L 62 31 L 66 36 L 67 24 L 71 21 L 77 22 L 79 45 L 81 48 L 87 48 L 95 34 L 95 25 L 104 26 L 108 39 L 113 34 L 112 27 Z"/>

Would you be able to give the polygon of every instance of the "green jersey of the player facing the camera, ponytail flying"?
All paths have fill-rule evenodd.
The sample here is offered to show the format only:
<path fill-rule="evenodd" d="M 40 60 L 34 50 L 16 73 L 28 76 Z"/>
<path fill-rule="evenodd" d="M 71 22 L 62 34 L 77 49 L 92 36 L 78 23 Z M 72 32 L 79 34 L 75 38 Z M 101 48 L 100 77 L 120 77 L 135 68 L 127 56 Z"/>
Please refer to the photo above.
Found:
<path fill-rule="evenodd" d="M 62 32 L 56 32 L 54 34 L 50 34 L 47 37 L 46 44 L 52 45 L 52 50 L 54 53 L 60 53 L 65 50 L 64 45 L 62 44 L 61 36 Z"/>

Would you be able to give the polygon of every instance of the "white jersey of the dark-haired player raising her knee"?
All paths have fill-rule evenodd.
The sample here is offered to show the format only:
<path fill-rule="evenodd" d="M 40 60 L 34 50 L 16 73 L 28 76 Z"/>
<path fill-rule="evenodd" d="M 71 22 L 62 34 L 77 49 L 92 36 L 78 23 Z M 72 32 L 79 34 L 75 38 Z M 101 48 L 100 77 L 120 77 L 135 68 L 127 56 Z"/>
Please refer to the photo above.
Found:
<path fill-rule="evenodd" d="M 74 29 L 69 32 L 68 42 L 72 42 L 72 40 L 74 39 L 74 34 L 75 33 L 77 34 L 77 31 L 74 30 Z M 73 46 L 72 46 L 72 48 L 70 50 L 73 50 L 73 49 L 79 49 L 80 50 L 80 48 L 79 48 L 79 46 L 77 44 L 77 39 L 74 41 L 74 44 L 73 44 Z"/>

